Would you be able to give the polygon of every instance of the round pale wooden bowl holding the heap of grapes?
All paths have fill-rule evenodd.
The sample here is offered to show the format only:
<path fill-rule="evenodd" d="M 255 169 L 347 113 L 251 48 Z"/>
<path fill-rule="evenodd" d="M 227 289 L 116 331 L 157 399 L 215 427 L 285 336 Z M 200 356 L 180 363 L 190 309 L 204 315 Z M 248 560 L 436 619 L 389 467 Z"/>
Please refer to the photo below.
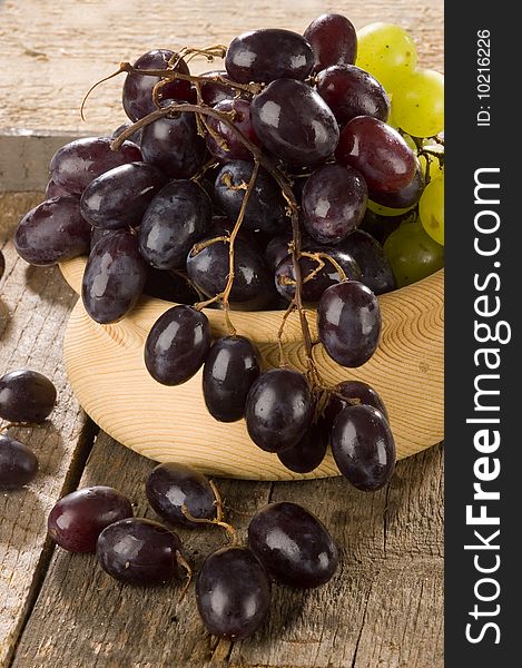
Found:
<path fill-rule="evenodd" d="M 86 258 L 60 265 L 80 294 Z M 308 312 L 314 357 L 326 381 L 370 383 L 390 412 L 397 456 L 420 452 L 443 439 L 443 297 L 444 273 L 380 297 L 383 334 L 370 362 L 348 370 L 333 362 L 318 343 L 315 312 Z M 208 474 L 257 480 L 298 480 L 338 475 L 327 454 L 314 472 L 286 470 L 275 454 L 259 450 L 245 422 L 217 422 L 206 410 L 201 372 L 184 385 L 154 381 L 144 364 L 145 338 L 170 303 L 144 297 L 124 321 L 99 325 L 81 299 L 73 308 L 65 338 L 65 363 L 71 386 L 86 412 L 114 439 L 157 461 L 193 464 Z M 223 313 L 206 310 L 213 332 L 225 335 Z M 260 348 L 267 365 L 278 363 L 277 331 L 282 312 L 233 312 L 237 333 Z M 284 344 L 289 362 L 304 369 L 298 318 L 288 318 Z"/>

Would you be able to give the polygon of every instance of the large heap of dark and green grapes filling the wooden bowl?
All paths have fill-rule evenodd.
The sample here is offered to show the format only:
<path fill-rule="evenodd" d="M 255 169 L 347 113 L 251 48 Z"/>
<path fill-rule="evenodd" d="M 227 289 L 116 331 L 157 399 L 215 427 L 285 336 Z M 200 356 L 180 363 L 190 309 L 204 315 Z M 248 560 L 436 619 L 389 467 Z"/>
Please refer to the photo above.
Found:
<path fill-rule="evenodd" d="M 200 55 L 225 69 L 191 75 Z M 100 324 L 144 293 L 175 302 L 145 343 L 158 383 L 203 366 L 216 420 L 244 418 L 253 442 L 299 473 L 329 443 L 349 482 L 380 489 L 395 462 L 386 410 L 364 383 L 324 382 L 305 307 L 331 357 L 358 367 L 380 341 L 376 295 L 442 266 L 442 76 L 415 65 L 401 28 L 357 37 L 339 14 L 304 35 L 255 30 L 124 62 L 131 124 L 58 150 L 17 249 L 37 265 L 88 255 L 81 296 Z M 205 307 L 223 310 L 227 336 L 213 341 Z M 234 310 L 262 308 L 284 311 L 280 365 L 268 371 L 234 327 Z M 282 345 L 293 312 L 305 373 Z"/>

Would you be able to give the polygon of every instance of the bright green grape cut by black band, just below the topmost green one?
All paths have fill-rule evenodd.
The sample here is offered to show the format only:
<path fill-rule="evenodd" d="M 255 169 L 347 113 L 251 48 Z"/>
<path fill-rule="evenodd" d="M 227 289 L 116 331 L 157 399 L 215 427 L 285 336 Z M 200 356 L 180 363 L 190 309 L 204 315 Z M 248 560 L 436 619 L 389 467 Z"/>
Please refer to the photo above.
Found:
<path fill-rule="evenodd" d="M 414 137 L 433 137 L 444 129 L 444 77 L 417 70 L 393 89 L 393 117 Z"/>

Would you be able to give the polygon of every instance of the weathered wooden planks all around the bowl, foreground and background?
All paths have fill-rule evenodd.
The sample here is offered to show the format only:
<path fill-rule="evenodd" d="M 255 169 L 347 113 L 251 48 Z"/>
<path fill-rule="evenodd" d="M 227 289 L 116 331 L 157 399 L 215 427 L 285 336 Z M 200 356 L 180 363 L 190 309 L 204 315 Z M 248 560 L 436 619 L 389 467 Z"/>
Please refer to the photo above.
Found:
<path fill-rule="evenodd" d="M 335 6 L 179 0 L 24 0 L 0 2 L 0 374 L 29 366 L 52 377 L 59 402 L 43 429 L 14 433 L 37 452 L 38 479 L 0 495 L 0 666 L 16 668 L 306 667 L 437 668 L 443 664 L 442 446 L 401 462 L 391 484 L 366 495 L 342 479 L 298 483 L 223 480 L 244 536 L 248 514 L 268 501 L 311 508 L 332 530 L 342 560 L 325 587 L 276 587 L 269 620 L 252 639 L 216 642 L 199 621 L 191 590 L 124 587 L 92 557 L 55 549 L 46 519 L 79 485 L 110 484 L 136 514 L 148 509 L 152 463 L 99 433 L 65 376 L 61 344 L 76 296 L 56 268 L 20 261 L 10 242 L 19 217 L 41 199 L 46 163 L 63 137 L 102 132 L 122 120 L 118 86 L 99 89 L 88 126 L 76 109 L 90 82 L 122 59 L 157 46 L 227 42 L 255 27 L 303 30 L 335 9 L 357 27 L 400 22 L 414 33 L 421 62 L 442 69 L 442 1 L 368 0 Z M 86 130 L 86 127 L 88 128 Z M 27 130 L 31 130 L 28 132 Z M 3 190 L 3 191 L 2 191 Z M 244 514 L 246 513 L 246 514 Z M 180 532 L 196 568 L 224 536 Z"/>

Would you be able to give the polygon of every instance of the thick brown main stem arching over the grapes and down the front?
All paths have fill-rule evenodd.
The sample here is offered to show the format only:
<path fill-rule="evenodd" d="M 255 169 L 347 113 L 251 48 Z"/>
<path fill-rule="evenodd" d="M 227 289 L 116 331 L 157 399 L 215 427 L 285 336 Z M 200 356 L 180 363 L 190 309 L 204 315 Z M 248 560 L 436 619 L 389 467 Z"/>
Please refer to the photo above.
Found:
<path fill-rule="evenodd" d="M 126 71 L 126 70 L 122 70 L 122 71 Z M 148 70 L 135 70 L 135 71 L 136 71 L 136 73 L 140 73 L 140 75 L 149 73 Z M 158 70 L 159 73 L 157 76 L 164 76 L 161 72 L 165 72 L 165 71 L 169 71 L 169 70 Z M 210 77 L 204 78 L 204 79 L 206 82 L 213 80 L 213 78 L 210 78 Z M 156 111 L 152 111 L 148 116 L 145 116 L 144 118 L 139 119 L 134 125 L 131 125 L 129 128 L 124 130 L 124 132 L 121 132 L 121 135 L 119 135 L 119 137 L 117 137 L 116 139 L 112 140 L 111 148 L 114 150 L 117 150 L 124 144 L 124 141 L 126 139 L 128 139 L 131 135 L 134 135 L 137 130 L 146 127 L 147 125 L 149 125 L 160 118 L 165 118 L 171 114 L 176 114 L 179 111 L 193 112 L 193 114 L 201 115 L 204 117 L 215 118 L 216 120 L 219 120 L 220 122 L 223 122 L 228 129 L 230 129 L 232 132 L 234 132 L 236 135 L 237 139 L 250 151 L 250 154 L 254 158 L 254 161 L 257 163 L 258 166 L 266 169 L 266 171 L 268 171 L 268 174 L 276 180 L 277 185 L 279 186 L 283 197 L 285 198 L 285 200 L 288 205 L 287 206 L 287 215 L 289 216 L 290 222 L 292 222 L 293 240 L 289 244 L 289 248 L 290 248 L 290 254 L 292 254 L 292 259 L 293 259 L 293 265 L 294 265 L 294 277 L 295 277 L 295 282 L 296 282 L 295 306 L 299 314 L 301 328 L 303 331 L 303 342 L 304 342 L 304 347 L 305 347 L 308 380 L 312 382 L 313 385 L 317 384 L 317 383 L 321 384 L 321 376 L 315 366 L 313 355 L 312 355 L 312 348 L 313 348 L 312 335 L 311 335 L 309 325 L 308 325 L 308 321 L 306 318 L 306 313 L 305 313 L 305 310 L 303 306 L 303 298 L 302 298 L 303 276 L 302 276 L 301 266 L 299 266 L 299 257 L 301 257 L 302 250 L 301 250 L 301 229 L 299 229 L 299 222 L 298 222 L 298 216 L 297 216 L 298 207 L 297 207 L 297 202 L 295 199 L 294 193 L 292 191 L 292 187 L 290 187 L 288 180 L 285 178 L 285 176 L 280 173 L 280 170 L 272 163 L 272 160 L 267 156 L 265 156 L 265 154 L 255 144 L 253 144 L 247 137 L 245 137 L 245 135 L 234 125 L 234 122 L 228 118 L 227 115 L 225 115 L 211 107 L 207 107 L 206 105 L 171 102 L 170 105 L 165 106 L 161 109 L 157 109 Z M 213 303 L 215 301 L 216 299 L 214 298 L 209 303 Z M 203 307 L 201 304 L 199 304 L 198 306 L 200 308 Z"/>

